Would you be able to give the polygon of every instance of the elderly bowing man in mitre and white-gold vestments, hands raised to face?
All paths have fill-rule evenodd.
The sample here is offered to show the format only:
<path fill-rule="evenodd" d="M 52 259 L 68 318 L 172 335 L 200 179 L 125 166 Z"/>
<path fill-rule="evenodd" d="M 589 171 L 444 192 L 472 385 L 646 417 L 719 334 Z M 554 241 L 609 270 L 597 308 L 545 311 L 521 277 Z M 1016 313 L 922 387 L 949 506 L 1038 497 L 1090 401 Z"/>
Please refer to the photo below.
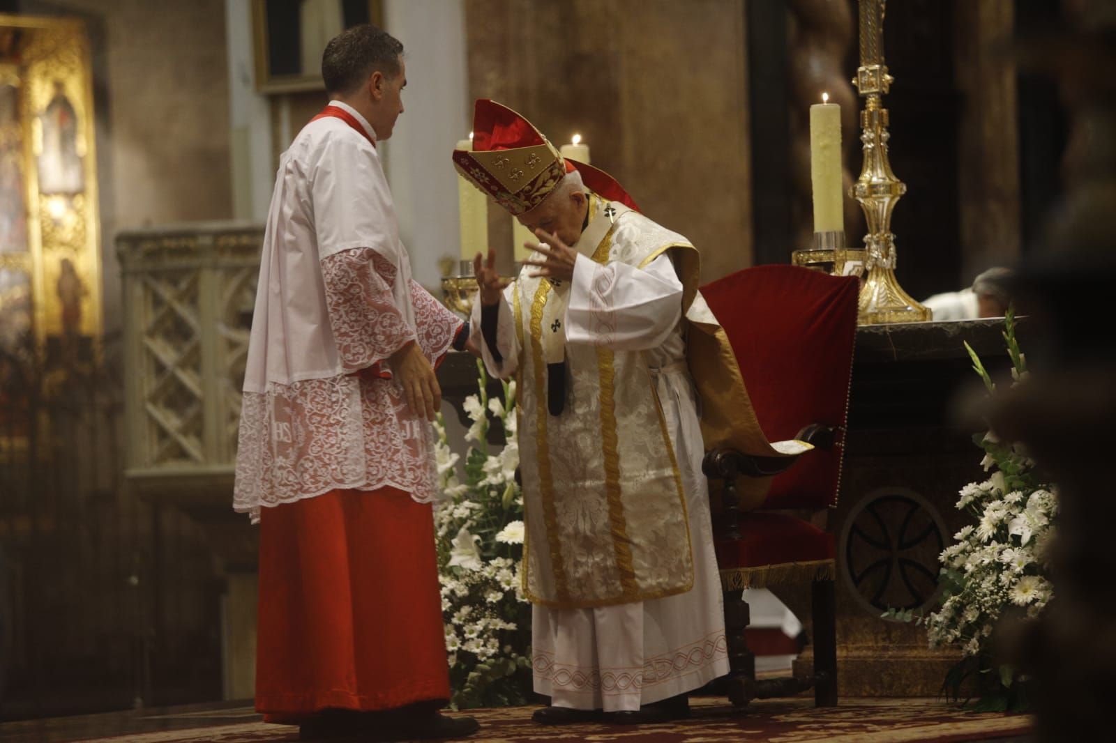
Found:
<path fill-rule="evenodd" d="M 478 260 L 471 322 L 490 373 L 520 379 L 523 588 L 535 689 L 551 698 L 536 720 L 682 716 L 685 693 L 729 670 L 686 363 L 693 324 L 715 327 L 696 251 L 499 104 L 477 102 L 473 151 L 454 162 L 576 255 L 569 279 L 526 266 L 502 292 Z"/>

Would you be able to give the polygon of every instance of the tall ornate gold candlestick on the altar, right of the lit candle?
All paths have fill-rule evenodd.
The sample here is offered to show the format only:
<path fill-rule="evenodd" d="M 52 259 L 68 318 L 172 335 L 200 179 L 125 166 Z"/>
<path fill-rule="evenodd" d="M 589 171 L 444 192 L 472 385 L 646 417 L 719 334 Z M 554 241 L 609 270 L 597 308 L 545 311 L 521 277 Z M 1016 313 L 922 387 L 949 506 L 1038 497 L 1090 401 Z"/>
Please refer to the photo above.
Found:
<path fill-rule="evenodd" d="M 931 318 L 930 310 L 903 291 L 895 278 L 895 235 L 891 231 L 892 210 L 906 193 L 906 184 L 895 177 L 887 158 L 887 109 L 881 97 L 894 78 L 884 64 L 884 6 L 887 0 L 860 0 L 860 67 L 853 85 L 866 98 L 860 112 L 864 168 L 849 190 L 860 202 L 867 221 L 864 237 L 865 270 L 860 287 L 858 322 L 918 322 Z"/>

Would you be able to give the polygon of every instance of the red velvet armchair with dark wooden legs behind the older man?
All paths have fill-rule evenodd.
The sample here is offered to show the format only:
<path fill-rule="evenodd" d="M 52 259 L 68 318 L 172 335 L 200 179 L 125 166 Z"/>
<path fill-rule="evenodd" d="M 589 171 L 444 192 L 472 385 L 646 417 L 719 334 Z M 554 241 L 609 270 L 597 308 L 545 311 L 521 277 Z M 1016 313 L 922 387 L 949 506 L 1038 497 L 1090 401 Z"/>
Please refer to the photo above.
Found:
<path fill-rule="evenodd" d="M 858 291 L 856 278 L 790 266 L 745 269 L 702 288 L 732 344 L 768 441 L 797 438 L 815 446 L 791 460 L 727 448 L 705 455 L 711 490 L 722 483 L 714 539 L 732 667 L 728 692 L 738 707 L 810 686 L 818 706 L 837 704 L 834 537 L 783 511 L 817 512 L 837 503 Z M 772 477 L 758 509 L 741 508 L 735 488 L 741 476 Z M 812 581 L 814 675 L 757 683 L 741 592 L 796 580 Z"/>

